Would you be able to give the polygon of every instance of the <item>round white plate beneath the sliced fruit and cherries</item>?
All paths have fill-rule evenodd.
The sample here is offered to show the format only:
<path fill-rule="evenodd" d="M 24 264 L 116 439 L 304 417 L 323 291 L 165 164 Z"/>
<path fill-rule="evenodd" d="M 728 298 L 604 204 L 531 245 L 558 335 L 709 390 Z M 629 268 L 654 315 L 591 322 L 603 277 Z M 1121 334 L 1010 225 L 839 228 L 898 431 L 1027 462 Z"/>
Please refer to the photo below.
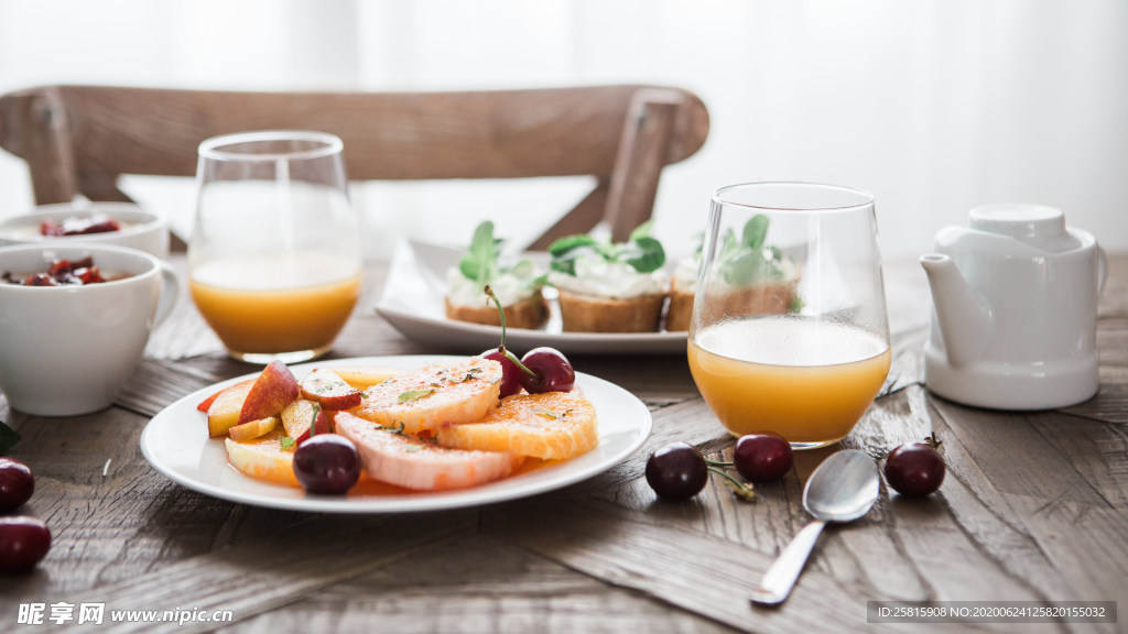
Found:
<path fill-rule="evenodd" d="M 462 358 L 446 355 L 364 356 L 293 366 L 301 380 L 314 368 L 377 366 L 415 369 Z M 201 389 L 166 407 L 141 432 L 141 452 L 155 469 L 174 482 L 222 500 L 321 513 L 403 513 L 477 507 L 527 497 L 587 479 L 626 460 L 650 435 L 650 412 L 633 394 L 603 379 L 576 372 L 575 384 L 596 407 L 599 444 L 582 456 L 490 484 L 457 491 L 402 495 L 307 494 L 300 488 L 254 479 L 227 461 L 223 439 L 208 437 L 206 417 L 196 411 L 215 391 L 254 378 L 247 375 Z"/>

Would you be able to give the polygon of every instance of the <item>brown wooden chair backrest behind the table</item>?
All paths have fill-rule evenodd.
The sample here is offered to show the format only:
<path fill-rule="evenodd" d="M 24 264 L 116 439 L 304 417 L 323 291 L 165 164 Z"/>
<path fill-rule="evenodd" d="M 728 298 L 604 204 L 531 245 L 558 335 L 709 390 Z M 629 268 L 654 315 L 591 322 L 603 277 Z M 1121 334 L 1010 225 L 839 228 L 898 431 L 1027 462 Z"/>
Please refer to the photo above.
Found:
<path fill-rule="evenodd" d="M 341 137 L 354 180 L 593 175 L 541 236 L 606 220 L 616 240 L 650 218 L 662 167 L 696 152 L 708 113 L 677 88 L 475 93 L 220 93 L 51 86 L 0 97 L 0 147 L 23 158 L 37 204 L 129 201 L 121 174 L 192 176 L 204 139 L 250 130 Z"/>

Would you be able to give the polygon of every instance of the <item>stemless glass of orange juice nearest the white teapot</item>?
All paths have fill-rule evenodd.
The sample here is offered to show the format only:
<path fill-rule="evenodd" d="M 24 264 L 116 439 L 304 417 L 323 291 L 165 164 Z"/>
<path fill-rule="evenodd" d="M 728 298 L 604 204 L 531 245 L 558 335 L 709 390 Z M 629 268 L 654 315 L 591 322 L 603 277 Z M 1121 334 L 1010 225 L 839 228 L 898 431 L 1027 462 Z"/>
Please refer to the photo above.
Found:
<path fill-rule="evenodd" d="M 713 194 L 689 368 L 733 435 L 837 442 L 889 373 L 873 196 L 809 183 Z"/>

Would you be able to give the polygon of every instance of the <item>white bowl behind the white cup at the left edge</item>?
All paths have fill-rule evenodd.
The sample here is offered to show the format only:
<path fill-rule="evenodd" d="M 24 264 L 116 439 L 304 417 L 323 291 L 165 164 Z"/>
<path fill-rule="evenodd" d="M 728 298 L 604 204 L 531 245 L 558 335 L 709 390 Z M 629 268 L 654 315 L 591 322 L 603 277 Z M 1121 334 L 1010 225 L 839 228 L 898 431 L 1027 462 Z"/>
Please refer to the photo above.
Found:
<path fill-rule="evenodd" d="M 83 236 L 41 236 L 39 223 L 46 219 L 89 218 L 105 213 L 115 220 L 134 223 L 118 231 Z M 135 248 L 161 259 L 168 258 L 168 220 L 132 203 L 60 203 L 35 208 L 35 212 L 0 221 L 0 247 L 50 243 L 71 246 L 76 243 Z"/>

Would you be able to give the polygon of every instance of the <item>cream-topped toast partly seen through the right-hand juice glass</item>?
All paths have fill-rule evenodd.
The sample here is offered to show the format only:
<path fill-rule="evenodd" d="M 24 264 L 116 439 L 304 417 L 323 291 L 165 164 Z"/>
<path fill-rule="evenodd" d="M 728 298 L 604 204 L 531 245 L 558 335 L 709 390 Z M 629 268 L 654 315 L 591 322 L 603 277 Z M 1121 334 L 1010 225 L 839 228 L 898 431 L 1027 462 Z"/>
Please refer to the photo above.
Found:
<path fill-rule="evenodd" d="M 711 282 L 714 307 L 723 315 L 783 315 L 803 307 L 797 294 L 800 270 L 795 261 L 777 247 L 765 244 L 768 218 L 757 214 L 744 223 L 738 238 L 732 229 L 721 238 Z M 678 263 L 666 318 L 668 331 L 688 331 L 697 293 L 700 250 Z"/>

